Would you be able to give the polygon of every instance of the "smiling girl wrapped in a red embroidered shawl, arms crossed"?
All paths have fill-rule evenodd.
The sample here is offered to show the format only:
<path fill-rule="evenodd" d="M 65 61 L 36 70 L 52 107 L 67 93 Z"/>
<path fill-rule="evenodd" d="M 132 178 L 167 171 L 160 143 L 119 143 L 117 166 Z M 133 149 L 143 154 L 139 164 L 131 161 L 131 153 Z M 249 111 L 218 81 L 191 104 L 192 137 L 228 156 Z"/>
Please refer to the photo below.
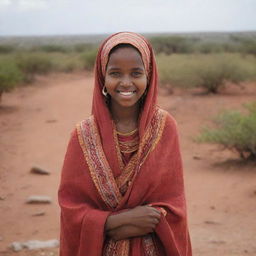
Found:
<path fill-rule="evenodd" d="M 64 160 L 61 256 L 191 256 L 176 122 L 157 106 L 153 50 L 121 32 L 101 45 L 92 115 Z"/>

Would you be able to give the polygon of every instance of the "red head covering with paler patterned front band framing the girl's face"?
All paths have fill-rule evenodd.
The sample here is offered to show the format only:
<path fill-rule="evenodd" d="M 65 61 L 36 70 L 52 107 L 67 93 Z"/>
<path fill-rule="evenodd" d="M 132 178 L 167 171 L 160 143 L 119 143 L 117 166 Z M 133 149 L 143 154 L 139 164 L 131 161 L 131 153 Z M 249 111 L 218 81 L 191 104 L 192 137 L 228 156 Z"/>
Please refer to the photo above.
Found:
<path fill-rule="evenodd" d="M 153 49 L 149 42 L 141 35 L 133 32 L 119 32 L 108 37 L 100 46 L 95 63 L 95 84 L 92 103 L 92 114 L 98 125 L 101 135 L 104 152 L 110 159 L 110 166 L 115 175 L 119 173 L 119 165 L 116 157 L 113 157 L 113 152 L 116 151 L 113 134 L 114 124 L 111 114 L 105 103 L 105 98 L 102 95 L 104 87 L 105 70 L 109 58 L 109 53 L 118 44 L 131 44 L 138 49 L 142 56 L 145 69 L 148 73 L 148 88 L 147 95 L 144 101 L 143 109 L 139 117 L 139 137 L 142 138 L 147 125 L 150 123 L 157 104 L 157 87 L 158 75 L 156 69 L 156 61 Z"/>

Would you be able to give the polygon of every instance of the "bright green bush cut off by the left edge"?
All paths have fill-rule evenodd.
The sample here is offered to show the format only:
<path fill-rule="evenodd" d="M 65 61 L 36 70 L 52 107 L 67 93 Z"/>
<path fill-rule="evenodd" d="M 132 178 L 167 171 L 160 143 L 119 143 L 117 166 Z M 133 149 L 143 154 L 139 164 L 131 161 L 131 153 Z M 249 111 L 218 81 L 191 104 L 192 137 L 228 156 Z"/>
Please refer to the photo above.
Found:
<path fill-rule="evenodd" d="M 23 80 L 23 74 L 12 62 L 0 63 L 0 101 L 3 92 L 12 90 Z"/>

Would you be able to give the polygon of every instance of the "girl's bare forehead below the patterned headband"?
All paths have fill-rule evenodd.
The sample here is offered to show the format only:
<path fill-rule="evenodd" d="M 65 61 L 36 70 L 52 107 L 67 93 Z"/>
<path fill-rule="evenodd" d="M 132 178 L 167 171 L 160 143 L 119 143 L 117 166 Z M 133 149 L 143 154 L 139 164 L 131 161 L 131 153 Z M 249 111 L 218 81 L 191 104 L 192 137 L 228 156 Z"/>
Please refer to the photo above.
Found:
<path fill-rule="evenodd" d="M 110 56 L 107 67 L 110 66 L 129 66 L 134 65 L 144 68 L 141 55 L 138 50 L 133 47 L 122 47 L 114 50 Z"/>

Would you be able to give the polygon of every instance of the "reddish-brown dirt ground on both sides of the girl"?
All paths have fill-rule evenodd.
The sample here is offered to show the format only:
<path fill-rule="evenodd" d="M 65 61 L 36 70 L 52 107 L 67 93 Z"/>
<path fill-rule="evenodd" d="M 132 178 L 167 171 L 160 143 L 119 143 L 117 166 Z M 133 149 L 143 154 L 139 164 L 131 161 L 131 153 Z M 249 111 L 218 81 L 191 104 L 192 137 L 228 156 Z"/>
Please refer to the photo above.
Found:
<path fill-rule="evenodd" d="M 91 74 L 40 77 L 3 95 L 0 107 L 0 255 L 58 255 L 58 249 L 13 252 L 13 241 L 59 238 L 57 189 L 70 132 L 90 114 Z M 256 255 L 256 164 L 193 137 L 222 109 L 256 99 L 256 85 L 229 85 L 219 95 L 160 91 L 159 104 L 177 120 L 193 252 L 196 256 Z M 30 173 L 39 166 L 51 175 Z M 52 204 L 28 205 L 30 195 Z M 33 216 L 39 212 L 43 216 Z"/>

